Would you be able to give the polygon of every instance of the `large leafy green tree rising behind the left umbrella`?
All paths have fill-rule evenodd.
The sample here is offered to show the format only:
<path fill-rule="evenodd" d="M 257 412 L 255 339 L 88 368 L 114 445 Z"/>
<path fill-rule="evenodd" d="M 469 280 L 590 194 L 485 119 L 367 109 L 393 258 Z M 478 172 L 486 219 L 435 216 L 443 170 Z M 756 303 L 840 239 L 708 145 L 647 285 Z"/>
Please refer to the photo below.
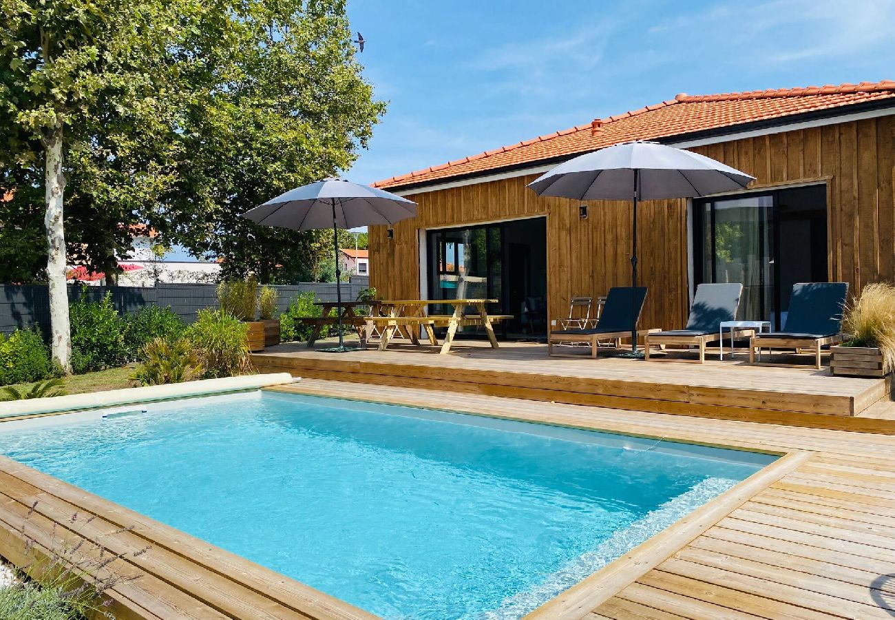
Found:
<path fill-rule="evenodd" d="M 201 42 L 197 56 L 214 58 L 214 79 L 184 110 L 175 140 L 190 157 L 151 223 L 173 243 L 222 257 L 227 275 L 319 280 L 330 231 L 263 227 L 240 214 L 349 168 L 385 107 L 354 60 L 344 2 L 266 0 L 233 11 L 239 53 Z"/>

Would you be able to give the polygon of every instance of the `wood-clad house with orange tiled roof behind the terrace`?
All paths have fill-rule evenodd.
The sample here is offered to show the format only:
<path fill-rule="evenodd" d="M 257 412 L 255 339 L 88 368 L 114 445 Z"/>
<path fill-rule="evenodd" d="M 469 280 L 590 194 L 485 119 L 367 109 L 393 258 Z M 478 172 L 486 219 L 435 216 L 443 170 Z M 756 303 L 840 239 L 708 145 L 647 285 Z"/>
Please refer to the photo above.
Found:
<path fill-rule="evenodd" d="M 682 327 L 700 282 L 742 282 L 741 317 L 780 325 L 795 282 L 846 281 L 855 292 L 895 280 L 895 82 L 885 81 L 680 94 L 379 181 L 419 212 L 391 231 L 370 227 L 371 286 L 384 298 L 497 298 L 517 317 L 541 300 L 555 319 L 570 297 L 629 285 L 629 202 L 582 209 L 525 185 L 631 140 L 690 149 L 756 177 L 737 194 L 641 203 L 642 326 Z"/>

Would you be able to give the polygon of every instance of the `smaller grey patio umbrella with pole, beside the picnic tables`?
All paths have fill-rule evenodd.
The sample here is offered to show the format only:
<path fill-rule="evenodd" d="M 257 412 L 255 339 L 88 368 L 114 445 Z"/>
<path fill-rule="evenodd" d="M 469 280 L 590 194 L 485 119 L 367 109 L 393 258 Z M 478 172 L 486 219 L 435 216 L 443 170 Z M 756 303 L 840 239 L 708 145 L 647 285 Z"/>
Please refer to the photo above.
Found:
<path fill-rule="evenodd" d="M 336 298 L 338 313 L 338 347 L 328 351 L 350 351 L 342 337 L 342 286 L 338 266 L 337 228 L 357 228 L 371 224 L 394 224 L 413 218 L 416 203 L 389 194 L 370 185 L 359 185 L 344 178 L 330 177 L 302 185 L 268 200 L 243 218 L 263 226 L 311 230 L 333 228 L 333 252 L 336 256 Z"/>

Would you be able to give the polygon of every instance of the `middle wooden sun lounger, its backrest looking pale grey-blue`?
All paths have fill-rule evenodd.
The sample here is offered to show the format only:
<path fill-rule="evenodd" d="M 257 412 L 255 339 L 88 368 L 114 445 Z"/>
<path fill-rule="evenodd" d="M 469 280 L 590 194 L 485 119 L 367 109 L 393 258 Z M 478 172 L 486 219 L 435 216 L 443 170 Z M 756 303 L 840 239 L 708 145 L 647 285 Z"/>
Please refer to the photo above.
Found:
<path fill-rule="evenodd" d="M 720 340 L 719 324 L 737 318 L 742 284 L 700 284 L 696 287 L 690 316 L 683 330 L 651 333 L 644 340 L 644 358 L 652 361 L 684 361 L 673 357 L 650 357 L 651 345 L 686 344 L 699 347 L 699 363 L 705 361 L 705 345 Z M 733 336 L 752 335 L 754 330 L 737 330 Z"/>

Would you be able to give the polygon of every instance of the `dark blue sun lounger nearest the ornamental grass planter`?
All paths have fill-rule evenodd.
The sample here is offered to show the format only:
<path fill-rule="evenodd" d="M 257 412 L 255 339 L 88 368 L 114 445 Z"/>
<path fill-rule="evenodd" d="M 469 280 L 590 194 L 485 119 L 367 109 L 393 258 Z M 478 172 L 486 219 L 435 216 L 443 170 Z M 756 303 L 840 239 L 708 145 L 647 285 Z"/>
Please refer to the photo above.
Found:
<path fill-rule="evenodd" d="M 756 333 L 749 340 L 749 363 L 755 363 L 756 349 L 759 361 L 761 349 L 814 349 L 814 367 L 820 369 L 821 349 L 846 340 L 841 333 L 846 296 L 846 282 L 794 284 L 783 331 Z"/>

